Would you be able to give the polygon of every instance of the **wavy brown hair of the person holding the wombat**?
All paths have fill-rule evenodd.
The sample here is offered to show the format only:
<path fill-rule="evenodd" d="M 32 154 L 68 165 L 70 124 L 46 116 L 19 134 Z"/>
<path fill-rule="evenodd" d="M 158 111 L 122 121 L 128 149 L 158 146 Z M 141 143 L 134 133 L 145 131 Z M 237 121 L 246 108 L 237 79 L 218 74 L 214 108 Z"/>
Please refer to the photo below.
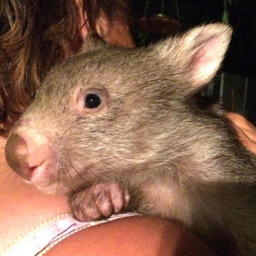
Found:
<path fill-rule="evenodd" d="M 125 0 L 84 0 L 83 9 L 94 29 L 102 11 L 113 19 L 129 7 Z M 24 112 L 47 71 L 79 50 L 77 12 L 74 0 L 0 0 L 2 121 Z"/>

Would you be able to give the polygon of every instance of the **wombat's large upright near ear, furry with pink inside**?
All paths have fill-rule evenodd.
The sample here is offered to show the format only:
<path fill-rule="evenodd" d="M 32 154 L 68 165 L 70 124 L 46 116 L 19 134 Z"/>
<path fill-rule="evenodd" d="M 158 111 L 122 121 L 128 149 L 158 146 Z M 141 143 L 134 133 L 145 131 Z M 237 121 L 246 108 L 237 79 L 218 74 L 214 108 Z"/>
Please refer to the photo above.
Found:
<path fill-rule="evenodd" d="M 171 65 L 174 75 L 194 86 L 202 86 L 219 69 L 231 34 L 232 29 L 221 23 L 196 27 L 183 36 L 160 43 L 158 53 Z"/>

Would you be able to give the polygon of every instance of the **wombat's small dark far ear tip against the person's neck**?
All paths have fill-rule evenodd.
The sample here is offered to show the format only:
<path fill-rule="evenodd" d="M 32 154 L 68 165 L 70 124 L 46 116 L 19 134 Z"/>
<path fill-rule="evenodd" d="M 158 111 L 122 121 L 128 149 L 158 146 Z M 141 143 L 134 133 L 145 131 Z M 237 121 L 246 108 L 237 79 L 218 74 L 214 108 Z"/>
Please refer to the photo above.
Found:
<path fill-rule="evenodd" d="M 106 42 L 95 31 L 91 31 L 84 40 L 80 52 L 93 51 L 106 46 Z"/>

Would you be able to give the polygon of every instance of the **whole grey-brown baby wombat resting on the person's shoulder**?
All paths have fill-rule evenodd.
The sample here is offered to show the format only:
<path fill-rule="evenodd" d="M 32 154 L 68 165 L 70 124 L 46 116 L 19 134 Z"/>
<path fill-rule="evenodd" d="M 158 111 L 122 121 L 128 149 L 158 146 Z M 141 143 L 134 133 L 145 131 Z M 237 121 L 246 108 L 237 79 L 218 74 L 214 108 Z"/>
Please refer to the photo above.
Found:
<path fill-rule="evenodd" d="M 143 49 L 88 43 L 53 68 L 11 130 L 9 166 L 67 193 L 81 221 L 136 211 L 177 222 L 218 252 L 226 241 L 255 256 L 256 158 L 221 108 L 196 96 L 230 37 L 211 24 Z"/>

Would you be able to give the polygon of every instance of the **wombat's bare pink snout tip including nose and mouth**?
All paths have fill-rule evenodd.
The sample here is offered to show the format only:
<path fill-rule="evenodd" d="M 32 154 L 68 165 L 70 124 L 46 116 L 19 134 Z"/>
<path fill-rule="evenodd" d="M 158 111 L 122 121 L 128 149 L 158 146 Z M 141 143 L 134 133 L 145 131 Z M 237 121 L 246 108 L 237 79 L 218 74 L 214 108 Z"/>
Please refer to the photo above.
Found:
<path fill-rule="evenodd" d="M 52 157 L 45 136 L 33 131 L 19 132 L 19 126 L 11 131 L 5 146 L 8 165 L 24 180 L 31 181 L 42 176 Z"/>

